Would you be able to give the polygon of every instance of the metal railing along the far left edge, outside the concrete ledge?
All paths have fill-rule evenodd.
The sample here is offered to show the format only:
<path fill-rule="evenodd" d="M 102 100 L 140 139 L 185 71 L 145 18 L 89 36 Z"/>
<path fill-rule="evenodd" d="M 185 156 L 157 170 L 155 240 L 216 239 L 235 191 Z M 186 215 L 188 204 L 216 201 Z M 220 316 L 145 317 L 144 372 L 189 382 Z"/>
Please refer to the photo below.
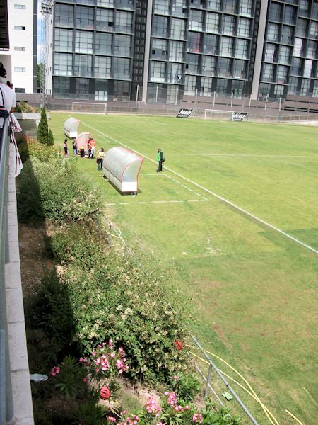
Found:
<path fill-rule="evenodd" d="M 5 288 L 5 264 L 8 263 L 8 154 L 8 120 L 0 118 L 0 425 L 13 421 Z"/>

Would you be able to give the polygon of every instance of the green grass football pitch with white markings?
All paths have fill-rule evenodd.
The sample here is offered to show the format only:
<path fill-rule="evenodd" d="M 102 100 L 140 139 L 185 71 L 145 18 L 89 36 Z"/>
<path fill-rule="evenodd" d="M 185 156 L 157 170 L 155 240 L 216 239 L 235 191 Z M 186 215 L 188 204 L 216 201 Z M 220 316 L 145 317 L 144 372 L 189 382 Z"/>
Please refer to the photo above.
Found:
<path fill-rule="evenodd" d="M 285 409 L 315 424 L 317 127 L 51 116 L 56 145 L 73 116 L 98 149 L 124 145 L 144 158 L 137 196 L 120 195 L 95 160 L 77 163 L 129 246 L 169 271 L 204 348 L 240 369 L 279 424 L 295 423 Z M 156 173 L 158 147 L 163 173 Z M 269 423 L 235 390 L 259 424 Z"/>

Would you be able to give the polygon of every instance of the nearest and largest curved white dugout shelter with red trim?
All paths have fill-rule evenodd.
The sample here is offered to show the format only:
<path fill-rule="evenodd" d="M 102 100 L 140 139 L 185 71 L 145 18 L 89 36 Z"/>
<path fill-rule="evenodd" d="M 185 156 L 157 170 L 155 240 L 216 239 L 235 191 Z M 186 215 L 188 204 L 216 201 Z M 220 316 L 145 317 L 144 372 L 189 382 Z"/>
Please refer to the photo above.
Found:
<path fill-rule="evenodd" d="M 102 161 L 104 176 L 120 192 L 138 191 L 138 176 L 143 158 L 122 146 L 107 150 Z"/>

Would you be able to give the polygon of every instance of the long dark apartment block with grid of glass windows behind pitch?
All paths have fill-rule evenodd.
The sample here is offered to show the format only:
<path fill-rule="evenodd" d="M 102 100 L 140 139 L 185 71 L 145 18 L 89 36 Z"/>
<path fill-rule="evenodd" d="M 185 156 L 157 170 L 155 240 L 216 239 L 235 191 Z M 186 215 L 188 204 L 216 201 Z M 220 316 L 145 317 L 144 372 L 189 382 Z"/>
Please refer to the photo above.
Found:
<path fill-rule="evenodd" d="M 54 0 L 49 94 L 318 96 L 317 0 Z"/>

